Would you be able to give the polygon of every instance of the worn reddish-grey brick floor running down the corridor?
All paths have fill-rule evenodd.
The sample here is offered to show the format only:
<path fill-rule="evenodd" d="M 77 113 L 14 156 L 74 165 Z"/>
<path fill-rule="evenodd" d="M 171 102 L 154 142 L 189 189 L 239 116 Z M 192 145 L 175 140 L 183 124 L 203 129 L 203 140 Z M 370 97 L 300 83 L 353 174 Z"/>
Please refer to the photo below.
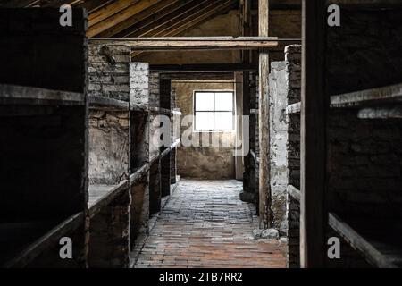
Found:
<path fill-rule="evenodd" d="M 135 267 L 285 267 L 284 243 L 253 239 L 258 218 L 241 184 L 181 180 Z"/>

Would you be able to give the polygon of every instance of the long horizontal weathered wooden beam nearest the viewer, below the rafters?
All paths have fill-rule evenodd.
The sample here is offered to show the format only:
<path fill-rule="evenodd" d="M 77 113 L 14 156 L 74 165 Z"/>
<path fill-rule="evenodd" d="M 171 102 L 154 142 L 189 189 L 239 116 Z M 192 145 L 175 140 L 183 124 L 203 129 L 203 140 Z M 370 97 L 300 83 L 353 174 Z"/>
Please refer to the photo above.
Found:
<path fill-rule="evenodd" d="M 277 38 L 254 37 L 165 37 L 165 38 L 94 38 L 93 44 L 115 44 L 130 46 L 132 50 L 247 50 L 278 46 Z"/>

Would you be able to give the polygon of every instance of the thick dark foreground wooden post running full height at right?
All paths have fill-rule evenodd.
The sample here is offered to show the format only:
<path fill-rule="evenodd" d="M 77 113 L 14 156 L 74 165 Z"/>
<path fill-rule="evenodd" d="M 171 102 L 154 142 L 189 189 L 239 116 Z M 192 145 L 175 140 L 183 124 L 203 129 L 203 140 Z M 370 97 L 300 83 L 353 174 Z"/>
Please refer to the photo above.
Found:
<path fill-rule="evenodd" d="M 300 265 L 322 267 L 325 213 L 326 122 L 325 1 L 303 0 L 301 92 Z"/>

